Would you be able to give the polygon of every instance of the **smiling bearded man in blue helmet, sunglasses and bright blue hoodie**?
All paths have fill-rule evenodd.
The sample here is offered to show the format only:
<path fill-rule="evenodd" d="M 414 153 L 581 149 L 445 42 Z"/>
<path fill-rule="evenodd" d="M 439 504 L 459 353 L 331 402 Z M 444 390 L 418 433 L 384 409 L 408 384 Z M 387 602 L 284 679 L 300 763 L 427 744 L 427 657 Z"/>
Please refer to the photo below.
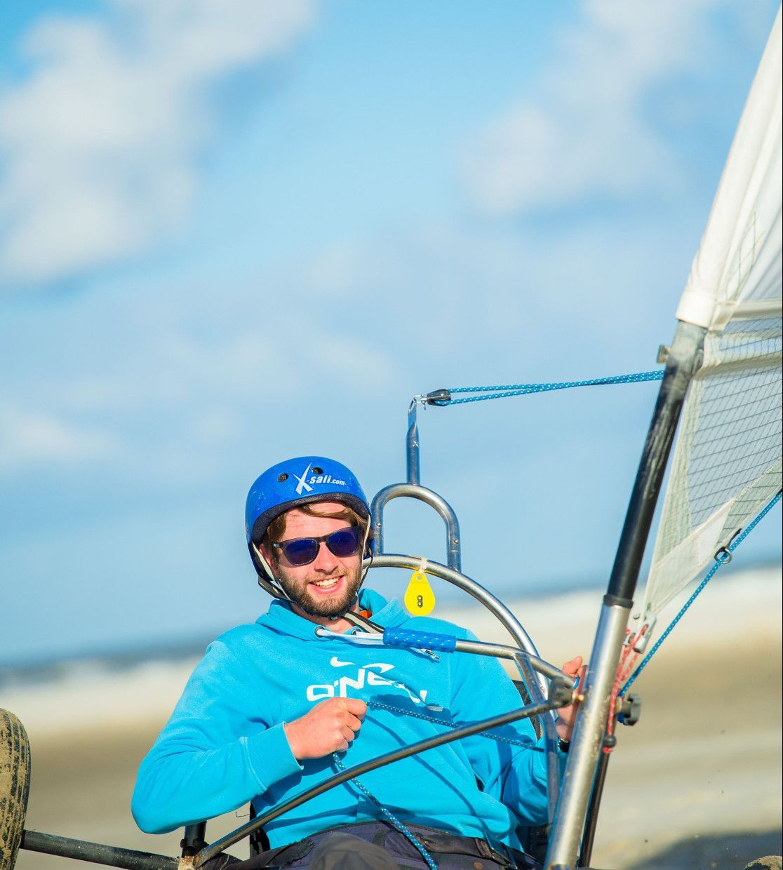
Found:
<path fill-rule="evenodd" d="M 274 465 L 253 484 L 245 521 L 258 582 L 277 599 L 212 643 L 191 675 L 139 770 L 132 809 L 144 831 L 248 801 L 261 814 L 340 766 L 519 706 L 496 659 L 351 643 L 366 619 L 472 635 L 412 619 L 361 589 L 370 512 L 345 465 L 323 457 Z M 566 673 L 580 664 L 573 659 Z M 559 714 L 568 740 L 574 711 Z M 348 867 L 346 844 L 357 867 L 425 867 L 422 851 L 437 853 L 440 867 L 532 866 L 517 829 L 546 821 L 545 755 L 529 722 L 497 736 L 455 740 L 284 813 L 266 827 L 271 851 L 252 867 Z M 319 833 L 334 828 L 340 836 Z"/>

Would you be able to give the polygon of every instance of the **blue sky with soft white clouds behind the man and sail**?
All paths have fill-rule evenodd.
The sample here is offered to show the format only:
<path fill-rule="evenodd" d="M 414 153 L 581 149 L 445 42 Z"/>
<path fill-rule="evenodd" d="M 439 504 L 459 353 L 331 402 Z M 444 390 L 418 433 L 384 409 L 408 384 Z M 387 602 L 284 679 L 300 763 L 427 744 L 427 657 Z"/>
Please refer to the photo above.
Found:
<path fill-rule="evenodd" d="M 0 659 L 254 619 L 252 479 L 402 479 L 415 393 L 656 367 L 776 8 L 6 4 Z M 425 412 L 465 571 L 603 583 L 654 395 Z"/>

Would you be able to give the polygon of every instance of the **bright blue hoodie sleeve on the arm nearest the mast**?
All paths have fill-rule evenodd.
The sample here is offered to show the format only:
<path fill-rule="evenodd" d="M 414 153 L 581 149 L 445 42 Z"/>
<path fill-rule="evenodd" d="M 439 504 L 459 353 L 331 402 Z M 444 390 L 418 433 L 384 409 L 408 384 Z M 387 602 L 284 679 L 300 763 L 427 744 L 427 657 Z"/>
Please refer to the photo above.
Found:
<path fill-rule="evenodd" d="M 467 639 L 474 639 L 471 632 L 465 633 Z M 522 706 L 516 686 L 498 659 L 471 653 L 454 653 L 454 656 L 452 715 L 455 721 L 487 719 Z M 463 741 L 484 791 L 511 808 L 520 825 L 545 824 L 548 804 L 543 740 L 536 740 L 529 719 L 521 719 L 492 733 L 515 743 L 480 735 Z M 520 742 L 525 745 L 516 745 Z"/>

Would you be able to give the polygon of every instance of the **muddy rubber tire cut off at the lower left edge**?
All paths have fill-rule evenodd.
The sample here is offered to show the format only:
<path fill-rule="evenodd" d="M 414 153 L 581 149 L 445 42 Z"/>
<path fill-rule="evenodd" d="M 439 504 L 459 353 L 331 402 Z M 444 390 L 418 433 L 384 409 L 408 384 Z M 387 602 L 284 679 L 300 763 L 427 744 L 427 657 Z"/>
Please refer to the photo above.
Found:
<path fill-rule="evenodd" d="M 0 710 L 0 870 L 13 870 L 30 795 L 30 741 L 13 713 Z"/>

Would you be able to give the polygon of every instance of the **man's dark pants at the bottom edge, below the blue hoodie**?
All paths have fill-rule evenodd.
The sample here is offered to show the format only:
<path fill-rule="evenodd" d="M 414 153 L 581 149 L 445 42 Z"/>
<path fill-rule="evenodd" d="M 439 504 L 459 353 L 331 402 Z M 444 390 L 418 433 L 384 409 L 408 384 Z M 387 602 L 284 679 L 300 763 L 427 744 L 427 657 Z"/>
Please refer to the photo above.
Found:
<path fill-rule="evenodd" d="M 458 837 L 430 827 L 408 825 L 439 870 L 539 870 L 540 865 L 516 849 L 495 851 L 485 840 Z M 412 842 L 385 822 L 360 822 L 311 834 L 271 849 L 231 870 L 427 870 Z M 204 868 L 206 870 L 206 867 Z M 217 868 L 216 868 L 217 870 Z"/>

